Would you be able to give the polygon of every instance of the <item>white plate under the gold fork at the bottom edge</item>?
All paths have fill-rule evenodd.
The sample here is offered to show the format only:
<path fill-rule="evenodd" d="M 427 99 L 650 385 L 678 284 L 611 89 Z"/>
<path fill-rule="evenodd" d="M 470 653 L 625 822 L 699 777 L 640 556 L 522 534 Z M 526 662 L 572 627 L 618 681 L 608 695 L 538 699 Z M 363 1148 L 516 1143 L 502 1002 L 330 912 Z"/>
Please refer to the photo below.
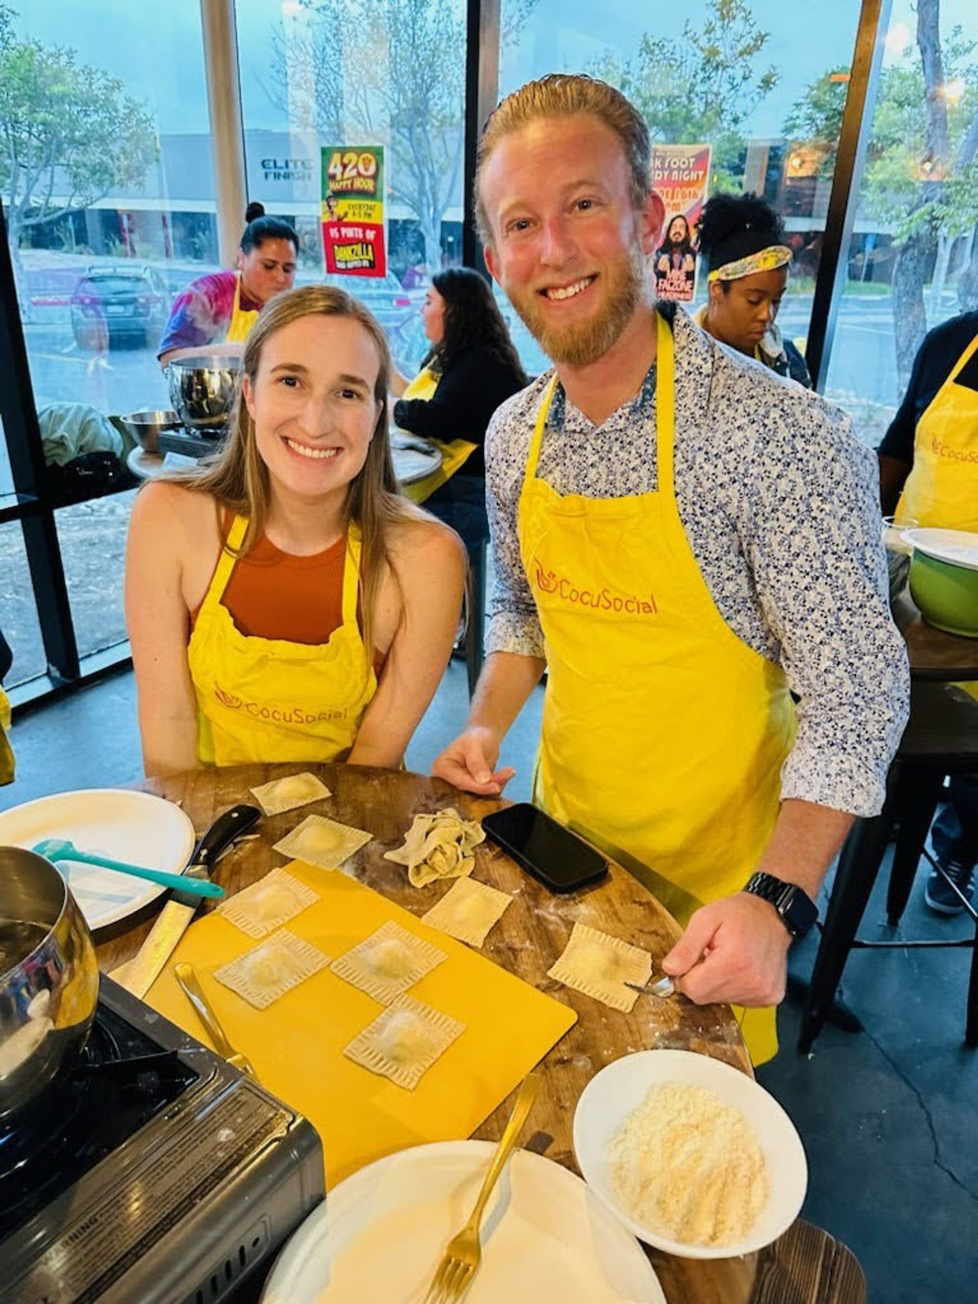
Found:
<path fill-rule="evenodd" d="M 445 1141 L 361 1168 L 282 1251 L 262 1304 L 421 1304 L 494 1146 Z M 466 1304 L 665 1304 L 639 1244 L 580 1178 L 516 1150 L 489 1200 Z"/>

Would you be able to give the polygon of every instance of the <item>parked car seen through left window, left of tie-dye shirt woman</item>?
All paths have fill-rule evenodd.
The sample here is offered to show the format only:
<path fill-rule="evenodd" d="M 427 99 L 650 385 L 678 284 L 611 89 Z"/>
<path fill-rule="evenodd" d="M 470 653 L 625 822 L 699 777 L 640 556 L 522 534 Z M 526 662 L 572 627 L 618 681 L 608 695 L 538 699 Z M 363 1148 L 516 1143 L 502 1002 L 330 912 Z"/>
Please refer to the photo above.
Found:
<path fill-rule="evenodd" d="M 155 267 L 90 267 L 72 295 L 78 348 L 128 340 L 155 348 L 170 317 L 171 293 Z"/>

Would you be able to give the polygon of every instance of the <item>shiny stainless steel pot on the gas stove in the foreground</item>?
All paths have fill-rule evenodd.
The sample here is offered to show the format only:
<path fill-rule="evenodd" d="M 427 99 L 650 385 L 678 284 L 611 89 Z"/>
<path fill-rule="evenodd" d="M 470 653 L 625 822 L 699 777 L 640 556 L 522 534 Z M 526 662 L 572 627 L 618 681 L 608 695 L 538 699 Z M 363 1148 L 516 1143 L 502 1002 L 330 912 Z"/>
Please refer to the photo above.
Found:
<path fill-rule="evenodd" d="M 50 861 L 0 846 L 0 1119 L 85 1046 L 95 1017 L 95 945 Z"/>

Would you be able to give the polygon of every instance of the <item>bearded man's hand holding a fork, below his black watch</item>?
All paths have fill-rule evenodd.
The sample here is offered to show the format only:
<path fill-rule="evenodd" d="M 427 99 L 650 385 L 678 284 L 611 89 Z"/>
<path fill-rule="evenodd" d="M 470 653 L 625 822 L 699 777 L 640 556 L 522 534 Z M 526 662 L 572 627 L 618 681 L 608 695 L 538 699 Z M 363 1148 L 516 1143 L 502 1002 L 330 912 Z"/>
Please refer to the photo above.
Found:
<path fill-rule="evenodd" d="M 679 991 L 698 1005 L 778 1005 L 792 936 L 769 901 L 738 892 L 702 906 L 662 961 Z"/>

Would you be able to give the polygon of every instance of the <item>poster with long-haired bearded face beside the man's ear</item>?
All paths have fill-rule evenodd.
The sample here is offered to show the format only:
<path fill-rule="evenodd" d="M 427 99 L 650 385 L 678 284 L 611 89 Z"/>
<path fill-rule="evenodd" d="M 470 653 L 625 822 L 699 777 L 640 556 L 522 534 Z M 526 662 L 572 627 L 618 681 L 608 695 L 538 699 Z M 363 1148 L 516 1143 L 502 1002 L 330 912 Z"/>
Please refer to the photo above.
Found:
<path fill-rule="evenodd" d="M 652 189 L 665 205 L 662 243 L 652 257 L 657 299 L 687 304 L 696 293 L 696 226 L 708 185 L 708 145 L 653 147 Z"/>

